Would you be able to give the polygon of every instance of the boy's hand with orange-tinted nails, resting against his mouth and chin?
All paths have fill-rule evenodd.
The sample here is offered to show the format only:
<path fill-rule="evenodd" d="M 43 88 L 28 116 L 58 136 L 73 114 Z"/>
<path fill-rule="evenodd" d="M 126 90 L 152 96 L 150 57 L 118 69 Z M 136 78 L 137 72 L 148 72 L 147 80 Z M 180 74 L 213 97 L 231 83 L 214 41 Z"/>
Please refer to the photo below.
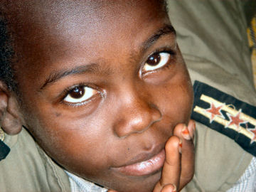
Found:
<path fill-rule="evenodd" d="M 161 178 L 153 192 L 180 191 L 191 181 L 194 174 L 194 146 L 193 134 L 196 124 L 193 120 L 185 124 L 177 124 L 174 128 L 174 136 L 167 141 L 166 159 Z M 182 154 L 180 153 L 182 152 Z M 108 192 L 117 192 L 109 190 Z"/>

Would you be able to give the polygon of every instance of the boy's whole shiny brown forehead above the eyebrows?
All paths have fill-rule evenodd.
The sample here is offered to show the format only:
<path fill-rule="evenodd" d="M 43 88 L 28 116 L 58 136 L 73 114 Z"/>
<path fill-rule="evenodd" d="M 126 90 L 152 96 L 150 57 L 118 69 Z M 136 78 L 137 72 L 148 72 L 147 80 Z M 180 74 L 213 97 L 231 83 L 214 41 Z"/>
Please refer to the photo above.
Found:
<path fill-rule="evenodd" d="M 169 21 L 161 1 L 14 1 L 9 6 L 26 77 L 63 59 L 90 63 L 106 51 L 127 51 L 151 35 L 150 28 Z"/>

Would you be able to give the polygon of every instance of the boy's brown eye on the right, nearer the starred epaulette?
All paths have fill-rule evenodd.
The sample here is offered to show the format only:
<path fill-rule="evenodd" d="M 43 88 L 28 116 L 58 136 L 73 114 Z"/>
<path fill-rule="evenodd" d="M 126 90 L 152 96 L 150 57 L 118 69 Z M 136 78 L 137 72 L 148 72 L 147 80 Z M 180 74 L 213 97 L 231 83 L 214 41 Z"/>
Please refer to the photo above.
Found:
<path fill-rule="evenodd" d="M 164 65 L 166 65 L 167 63 L 169 63 L 170 58 L 171 58 L 170 53 L 165 53 L 165 52 L 154 53 L 150 55 L 149 58 L 146 60 L 146 63 L 143 66 L 143 71 L 147 72 L 147 71 L 159 69 Z"/>

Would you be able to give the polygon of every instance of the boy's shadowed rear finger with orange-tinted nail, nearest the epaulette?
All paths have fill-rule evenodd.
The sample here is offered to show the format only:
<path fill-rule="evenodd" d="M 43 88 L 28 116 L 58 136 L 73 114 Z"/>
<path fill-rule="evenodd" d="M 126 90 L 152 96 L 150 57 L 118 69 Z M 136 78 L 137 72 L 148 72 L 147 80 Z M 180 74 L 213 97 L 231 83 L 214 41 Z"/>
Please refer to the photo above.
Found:
<path fill-rule="evenodd" d="M 174 135 L 182 139 L 182 156 L 181 156 L 181 179 L 180 188 L 186 186 L 186 184 L 191 181 L 194 174 L 195 167 L 195 154 L 193 145 L 193 134 L 195 128 L 195 123 L 193 120 L 188 122 L 188 127 L 186 125 L 179 124 L 174 129 Z M 188 129 L 191 131 L 189 132 Z"/>

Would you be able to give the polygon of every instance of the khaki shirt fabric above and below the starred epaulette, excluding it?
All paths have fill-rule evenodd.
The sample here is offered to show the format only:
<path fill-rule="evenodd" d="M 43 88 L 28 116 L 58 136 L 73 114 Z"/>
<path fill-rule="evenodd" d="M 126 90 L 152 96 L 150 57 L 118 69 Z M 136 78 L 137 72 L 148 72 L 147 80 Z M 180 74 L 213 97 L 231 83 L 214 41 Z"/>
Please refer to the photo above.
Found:
<path fill-rule="evenodd" d="M 192 81 L 256 106 L 241 2 L 169 0 L 168 4 Z M 203 124 L 196 126 L 195 176 L 184 191 L 227 191 L 242 176 L 252 155 L 233 139 Z"/>

